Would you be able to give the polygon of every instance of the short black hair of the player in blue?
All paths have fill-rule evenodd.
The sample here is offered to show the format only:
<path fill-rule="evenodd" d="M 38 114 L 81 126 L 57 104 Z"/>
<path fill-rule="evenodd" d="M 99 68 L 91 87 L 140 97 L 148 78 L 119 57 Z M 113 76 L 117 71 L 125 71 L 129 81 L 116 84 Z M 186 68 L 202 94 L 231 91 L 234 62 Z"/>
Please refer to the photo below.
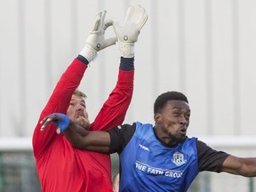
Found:
<path fill-rule="evenodd" d="M 164 92 L 156 98 L 154 104 L 154 114 L 159 113 L 164 108 L 168 100 L 183 100 L 188 103 L 187 97 L 181 92 Z"/>

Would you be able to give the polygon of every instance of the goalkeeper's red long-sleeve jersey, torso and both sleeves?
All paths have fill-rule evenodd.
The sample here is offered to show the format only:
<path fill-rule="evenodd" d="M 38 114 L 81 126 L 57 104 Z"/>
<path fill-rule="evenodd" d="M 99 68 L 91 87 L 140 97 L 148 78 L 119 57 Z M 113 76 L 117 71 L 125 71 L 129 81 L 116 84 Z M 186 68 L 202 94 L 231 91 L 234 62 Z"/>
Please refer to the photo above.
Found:
<path fill-rule="evenodd" d="M 33 134 L 36 171 L 44 192 L 113 191 L 110 156 L 72 148 L 56 126 L 40 131 L 40 121 L 54 112 L 67 113 L 73 92 L 80 84 L 87 66 L 75 59 L 60 77 L 52 96 L 39 117 Z M 108 130 L 122 124 L 132 99 L 134 70 L 119 69 L 115 89 L 100 109 L 90 130 Z"/>

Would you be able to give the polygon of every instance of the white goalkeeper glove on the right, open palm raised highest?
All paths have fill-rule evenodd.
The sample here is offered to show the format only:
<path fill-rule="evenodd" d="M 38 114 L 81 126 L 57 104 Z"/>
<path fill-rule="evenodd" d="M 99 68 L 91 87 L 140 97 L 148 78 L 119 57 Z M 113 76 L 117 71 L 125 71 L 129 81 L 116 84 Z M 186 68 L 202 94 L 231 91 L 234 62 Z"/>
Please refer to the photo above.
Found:
<path fill-rule="evenodd" d="M 140 30 L 147 20 L 147 13 L 139 4 L 128 8 L 123 25 L 114 20 L 113 27 L 119 40 L 120 52 L 124 58 L 134 56 L 134 43 L 138 41 Z"/>

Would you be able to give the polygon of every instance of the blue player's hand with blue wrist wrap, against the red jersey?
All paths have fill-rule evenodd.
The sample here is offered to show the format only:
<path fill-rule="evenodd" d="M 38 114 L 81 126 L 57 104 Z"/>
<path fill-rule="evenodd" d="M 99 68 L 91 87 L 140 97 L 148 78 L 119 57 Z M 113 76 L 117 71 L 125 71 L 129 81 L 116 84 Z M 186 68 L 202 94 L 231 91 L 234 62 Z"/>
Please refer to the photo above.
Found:
<path fill-rule="evenodd" d="M 70 119 L 65 114 L 52 113 L 49 116 L 45 116 L 44 119 L 40 122 L 40 124 L 43 124 L 41 131 L 44 131 L 50 123 L 53 123 L 57 126 L 56 132 L 57 134 L 60 134 L 61 132 L 65 132 L 65 130 L 68 128 Z"/>

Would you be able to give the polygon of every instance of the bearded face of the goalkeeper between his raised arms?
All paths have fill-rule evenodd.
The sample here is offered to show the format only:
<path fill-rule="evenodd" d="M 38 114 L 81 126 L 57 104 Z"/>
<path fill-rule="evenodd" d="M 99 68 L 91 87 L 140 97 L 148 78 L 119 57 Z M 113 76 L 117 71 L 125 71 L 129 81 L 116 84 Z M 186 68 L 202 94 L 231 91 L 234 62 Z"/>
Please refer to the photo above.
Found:
<path fill-rule="evenodd" d="M 72 95 L 69 103 L 67 116 L 76 124 L 88 129 L 90 121 L 88 119 L 88 113 L 85 106 L 84 98 L 80 96 Z"/>

